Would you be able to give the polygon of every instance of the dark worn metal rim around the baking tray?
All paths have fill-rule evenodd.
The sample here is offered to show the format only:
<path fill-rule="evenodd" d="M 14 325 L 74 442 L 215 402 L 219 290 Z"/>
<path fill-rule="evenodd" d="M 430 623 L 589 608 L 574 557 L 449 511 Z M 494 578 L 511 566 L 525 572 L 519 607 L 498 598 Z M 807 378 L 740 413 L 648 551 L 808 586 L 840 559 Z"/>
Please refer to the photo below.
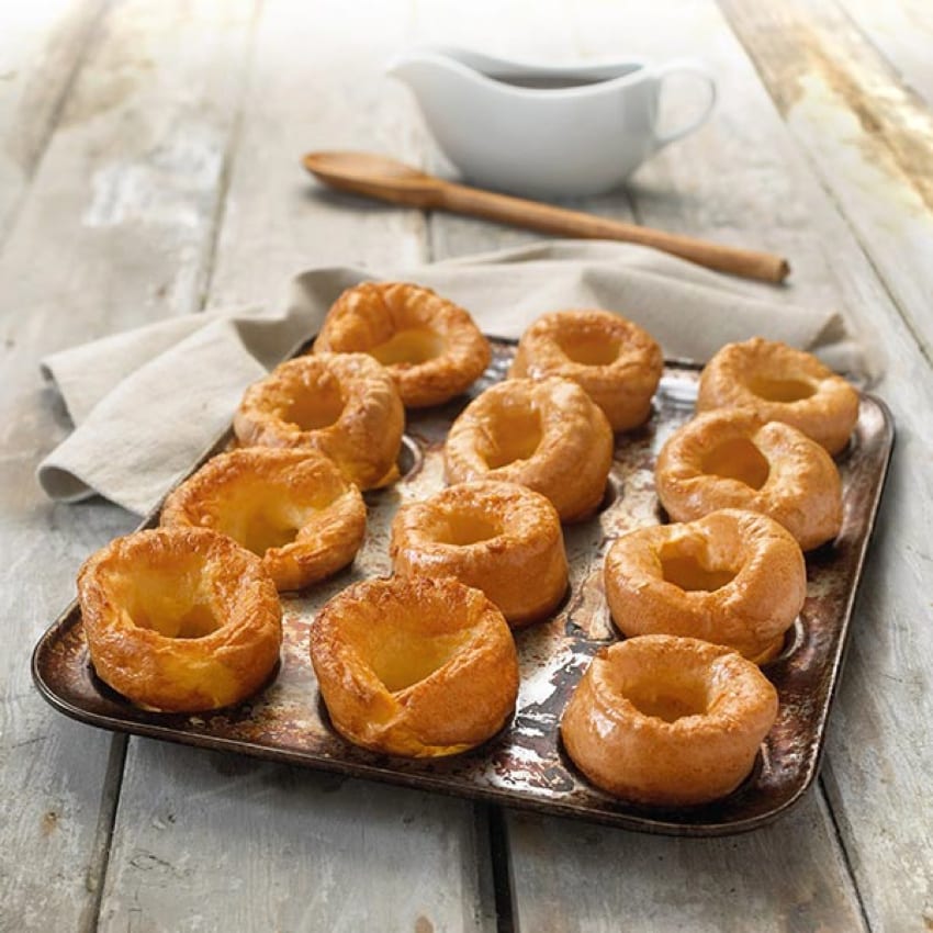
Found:
<path fill-rule="evenodd" d="M 514 346 L 517 342 L 510 338 L 499 338 L 491 335 L 487 336 L 490 336 L 490 339 L 497 340 L 502 344 Z M 312 341 L 313 338 L 311 340 L 302 340 L 295 347 L 290 357 L 301 353 L 303 349 L 311 346 Z M 665 358 L 664 367 L 665 369 L 674 367 L 678 369 L 699 371 L 702 368 L 702 364 L 693 360 Z M 336 773 L 347 777 L 378 780 L 380 783 L 408 787 L 412 789 L 441 793 L 449 797 L 496 803 L 515 810 L 583 820 L 585 822 L 597 823 L 600 825 L 612 825 L 650 834 L 681 838 L 716 838 L 751 832 L 778 819 L 801 801 L 819 775 L 825 751 L 827 723 L 835 701 L 842 670 L 845 663 L 845 656 L 848 650 L 852 614 L 862 582 L 866 555 L 874 537 L 879 506 L 887 483 L 896 440 L 895 420 L 887 403 L 874 393 L 861 390 L 856 391 L 859 393 L 859 398 L 866 400 L 876 406 L 881 417 L 883 430 L 880 431 L 881 440 L 879 443 L 880 469 L 870 477 L 873 494 L 866 510 L 867 524 L 864 536 L 858 540 L 858 547 L 854 560 L 855 571 L 853 574 L 853 584 L 851 587 L 846 588 L 844 605 L 838 620 L 839 649 L 831 656 L 827 668 L 828 690 L 825 701 L 820 707 L 814 754 L 810 756 L 806 773 L 795 791 L 778 806 L 765 811 L 764 813 L 753 814 L 730 822 L 677 822 L 676 820 L 665 818 L 665 816 L 661 814 L 653 817 L 650 808 L 645 808 L 644 810 L 639 809 L 637 813 L 609 812 L 605 810 L 595 811 L 566 803 L 564 801 L 539 798 L 536 795 L 527 793 L 524 795 L 520 793 L 516 794 L 516 791 L 494 786 L 452 784 L 450 780 L 446 779 L 445 776 L 429 772 L 393 769 L 391 765 L 380 766 L 378 764 L 345 761 L 329 755 L 314 755 L 306 752 L 289 751 L 288 749 L 279 749 L 245 739 L 224 738 L 212 735 L 207 732 L 182 731 L 170 724 L 159 724 L 158 722 L 137 722 L 89 710 L 85 707 L 75 705 L 69 699 L 57 693 L 56 689 L 46 681 L 42 671 L 42 660 L 45 652 L 52 650 L 58 639 L 70 631 L 70 629 L 72 629 L 80 620 L 80 607 L 78 606 L 77 598 L 71 599 L 57 618 L 46 628 L 36 642 L 31 655 L 31 673 L 33 683 L 43 699 L 45 699 L 57 711 L 76 721 L 106 729 L 108 731 L 115 733 L 140 735 L 144 738 L 168 741 L 191 747 L 207 749 L 211 751 L 236 752 L 238 754 L 245 754 L 263 761 L 278 762 L 280 764 Z M 166 492 L 154 508 L 140 520 L 134 531 L 144 530 L 157 525 L 162 504 L 171 491 L 200 469 L 200 466 L 211 457 L 220 452 L 220 450 L 228 443 L 232 436 L 233 428 L 231 426 L 215 438 L 207 448 L 205 448 L 204 452 L 195 460 L 191 469 L 180 476 L 172 487 Z M 389 758 L 389 761 L 391 762 L 392 758 Z M 670 813 L 671 811 L 663 812 Z"/>

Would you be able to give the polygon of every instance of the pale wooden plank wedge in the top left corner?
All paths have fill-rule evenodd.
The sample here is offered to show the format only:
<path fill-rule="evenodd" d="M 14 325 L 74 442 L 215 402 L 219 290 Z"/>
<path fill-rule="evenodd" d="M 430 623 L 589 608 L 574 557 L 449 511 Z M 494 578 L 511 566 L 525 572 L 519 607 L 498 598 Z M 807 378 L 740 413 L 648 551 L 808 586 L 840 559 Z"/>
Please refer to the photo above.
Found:
<path fill-rule="evenodd" d="M 0 243 L 105 7 L 56 0 L 0 10 Z"/>

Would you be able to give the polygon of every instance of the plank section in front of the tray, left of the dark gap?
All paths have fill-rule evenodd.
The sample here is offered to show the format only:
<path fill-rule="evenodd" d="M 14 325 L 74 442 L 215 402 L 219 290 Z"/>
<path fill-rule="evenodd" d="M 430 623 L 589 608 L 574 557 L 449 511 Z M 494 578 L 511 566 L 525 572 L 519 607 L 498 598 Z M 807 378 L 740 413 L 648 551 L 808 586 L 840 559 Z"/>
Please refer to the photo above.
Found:
<path fill-rule="evenodd" d="M 99 929 L 492 930 L 471 809 L 134 739 Z"/>

